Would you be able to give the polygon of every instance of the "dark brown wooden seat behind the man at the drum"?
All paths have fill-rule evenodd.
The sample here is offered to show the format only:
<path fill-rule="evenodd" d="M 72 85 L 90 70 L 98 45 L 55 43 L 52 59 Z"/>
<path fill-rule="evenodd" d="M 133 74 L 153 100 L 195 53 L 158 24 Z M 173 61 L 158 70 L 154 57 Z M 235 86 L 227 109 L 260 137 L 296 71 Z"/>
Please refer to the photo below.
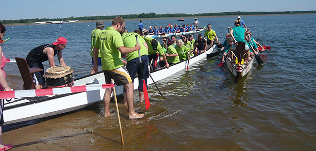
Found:
<path fill-rule="evenodd" d="M 35 83 L 33 82 L 32 74 L 35 72 L 43 71 L 41 68 L 29 68 L 27 61 L 24 58 L 16 57 L 18 64 L 18 70 L 20 70 L 21 77 L 23 79 L 23 90 L 35 89 Z"/>

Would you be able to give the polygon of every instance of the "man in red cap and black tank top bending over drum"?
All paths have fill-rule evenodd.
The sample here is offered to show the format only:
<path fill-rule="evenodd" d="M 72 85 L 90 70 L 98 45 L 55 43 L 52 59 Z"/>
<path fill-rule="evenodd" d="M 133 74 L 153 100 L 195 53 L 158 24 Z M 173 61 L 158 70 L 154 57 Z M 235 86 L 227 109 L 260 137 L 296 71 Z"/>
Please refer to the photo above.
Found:
<path fill-rule="evenodd" d="M 57 55 L 59 64 L 66 65 L 62 50 L 66 48 L 67 39 L 64 37 L 59 37 L 53 44 L 45 44 L 40 45 L 34 49 L 32 49 L 27 57 L 26 61 L 30 68 L 36 67 L 44 69 L 43 63 L 48 60 L 50 63 L 50 67 L 56 66 L 54 61 L 54 56 Z M 45 77 L 44 71 L 36 72 L 33 74 L 33 79 L 35 83 L 36 89 L 46 88 L 45 86 Z"/>

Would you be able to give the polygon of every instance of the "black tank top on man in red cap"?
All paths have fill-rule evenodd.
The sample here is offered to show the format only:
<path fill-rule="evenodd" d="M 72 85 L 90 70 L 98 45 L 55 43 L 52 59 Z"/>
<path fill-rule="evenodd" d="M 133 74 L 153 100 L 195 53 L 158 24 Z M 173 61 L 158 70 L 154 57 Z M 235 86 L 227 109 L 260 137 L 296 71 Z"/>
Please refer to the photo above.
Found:
<path fill-rule="evenodd" d="M 51 47 L 54 49 L 54 56 L 59 53 L 60 50 L 55 50 L 55 45 L 53 44 L 45 44 L 45 45 L 40 45 L 33 50 L 29 52 L 29 54 L 26 57 L 26 61 L 29 64 L 35 64 L 35 63 L 40 63 L 48 60 L 48 57 L 46 54 L 44 54 L 43 50 L 46 47 Z"/>

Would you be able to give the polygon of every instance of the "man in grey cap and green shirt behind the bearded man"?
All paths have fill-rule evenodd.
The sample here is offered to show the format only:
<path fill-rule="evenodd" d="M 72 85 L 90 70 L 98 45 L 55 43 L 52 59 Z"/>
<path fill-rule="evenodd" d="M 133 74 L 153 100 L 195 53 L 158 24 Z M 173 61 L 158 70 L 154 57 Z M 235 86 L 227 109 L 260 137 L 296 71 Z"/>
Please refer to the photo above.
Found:
<path fill-rule="evenodd" d="M 103 28 L 105 27 L 105 24 L 103 22 L 103 20 L 98 20 L 96 22 L 97 28 L 92 30 L 91 32 L 91 51 L 90 51 L 90 55 L 91 55 L 91 59 L 92 59 L 92 65 L 94 65 L 94 61 L 93 61 L 93 48 L 95 45 L 95 41 L 97 40 L 97 37 L 99 37 L 101 30 L 103 30 Z M 99 60 L 99 66 L 101 66 L 101 53 L 100 50 L 99 51 L 99 56 L 98 56 L 98 60 Z"/>

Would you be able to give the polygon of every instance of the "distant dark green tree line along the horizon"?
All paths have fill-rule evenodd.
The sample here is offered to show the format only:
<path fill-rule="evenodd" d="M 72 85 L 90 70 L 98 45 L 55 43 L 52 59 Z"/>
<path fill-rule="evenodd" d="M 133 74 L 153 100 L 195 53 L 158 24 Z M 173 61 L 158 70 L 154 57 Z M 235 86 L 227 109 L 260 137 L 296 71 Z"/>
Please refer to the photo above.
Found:
<path fill-rule="evenodd" d="M 311 14 L 316 11 L 285 11 L 285 12 L 222 12 L 222 13 L 200 13 L 200 14 L 156 14 L 156 13 L 141 13 L 130 15 L 106 15 L 106 16 L 83 16 L 83 17 L 68 17 L 68 18 L 35 18 L 35 19 L 18 19 L 18 20 L 1 20 L 2 24 L 13 23 L 35 23 L 40 21 L 58 21 L 58 20 L 103 20 L 113 19 L 116 16 L 121 16 L 124 19 L 132 18 L 161 18 L 161 17 L 196 17 L 196 16 L 221 16 L 221 15 L 271 15 L 271 14 Z"/>

